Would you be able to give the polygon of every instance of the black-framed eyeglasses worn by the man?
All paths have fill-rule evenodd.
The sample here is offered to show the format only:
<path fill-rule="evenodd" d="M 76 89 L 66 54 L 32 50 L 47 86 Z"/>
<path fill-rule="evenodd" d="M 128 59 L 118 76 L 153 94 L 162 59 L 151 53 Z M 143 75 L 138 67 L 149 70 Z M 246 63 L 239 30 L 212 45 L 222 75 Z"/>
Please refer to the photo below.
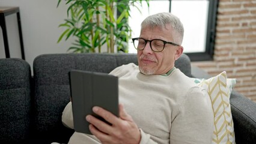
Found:
<path fill-rule="evenodd" d="M 145 40 L 144 38 L 132 38 L 133 45 L 137 50 L 144 50 L 145 46 L 148 42 L 150 42 L 150 48 L 153 52 L 162 52 L 165 48 L 165 44 L 172 44 L 173 46 L 180 46 L 178 44 L 160 40 L 160 39 L 153 39 L 153 40 Z"/>

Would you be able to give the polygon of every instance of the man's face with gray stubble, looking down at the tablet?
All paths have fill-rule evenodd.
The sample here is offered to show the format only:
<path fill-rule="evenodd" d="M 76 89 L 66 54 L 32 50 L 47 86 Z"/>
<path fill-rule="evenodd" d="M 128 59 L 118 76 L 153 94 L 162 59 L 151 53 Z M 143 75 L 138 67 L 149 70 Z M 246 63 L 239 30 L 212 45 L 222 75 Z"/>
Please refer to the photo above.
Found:
<path fill-rule="evenodd" d="M 141 29 L 141 38 L 145 40 L 160 39 L 169 42 L 174 42 L 172 38 L 172 28 L 171 26 L 166 26 L 166 29 L 160 28 L 144 28 Z M 143 74 L 165 74 L 172 67 L 174 67 L 174 62 L 177 60 L 181 53 L 183 52 L 183 47 L 172 46 L 171 44 L 165 44 L 165 48 L 162 52 L 153 52 L 150 48 L 150 43 L 148 42 L 144 50 L 138 50 L 138 64 L 139 70 Z"/>

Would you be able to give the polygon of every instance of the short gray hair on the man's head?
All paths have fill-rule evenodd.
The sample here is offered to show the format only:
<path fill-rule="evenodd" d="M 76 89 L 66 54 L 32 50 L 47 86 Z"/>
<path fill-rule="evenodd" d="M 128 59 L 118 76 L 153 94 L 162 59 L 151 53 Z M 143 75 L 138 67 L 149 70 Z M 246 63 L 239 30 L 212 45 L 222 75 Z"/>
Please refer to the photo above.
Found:
<path fill-rule="evenodd" d="M 141 29 L 153 29 L 157 27 L 163 30 L 164 28 L 166 29 L 166 26 L 168 25 L 174 29 L 174 32 L 172 32 L 172 38 L 174 38 L 173 42 L 181 45 L 184 35 L 183 24 L 177 16 L 174 16 L 171 13 L 157 13 L 148 16 L 141 23 Z"/>

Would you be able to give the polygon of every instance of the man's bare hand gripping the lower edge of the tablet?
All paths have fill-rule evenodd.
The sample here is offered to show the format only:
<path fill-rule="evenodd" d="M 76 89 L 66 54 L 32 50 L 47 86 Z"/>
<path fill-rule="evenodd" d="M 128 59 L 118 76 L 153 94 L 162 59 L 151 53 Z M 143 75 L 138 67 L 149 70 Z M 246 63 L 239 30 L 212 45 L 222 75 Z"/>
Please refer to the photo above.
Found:
<path fill-rule="evenodd" d="M 120 118 L 113 115 L 101 107 L 93 107 L 93 112 L 104 118 L 110 124 L 87 115 L 86 119 L 90 122 L 90 131 L 102 143 L 139 143 L 141 134 L 138 126 L 133 122 L 132 116 L 128 115 L 124 110 L 123 104 L 119 104 Z"/>

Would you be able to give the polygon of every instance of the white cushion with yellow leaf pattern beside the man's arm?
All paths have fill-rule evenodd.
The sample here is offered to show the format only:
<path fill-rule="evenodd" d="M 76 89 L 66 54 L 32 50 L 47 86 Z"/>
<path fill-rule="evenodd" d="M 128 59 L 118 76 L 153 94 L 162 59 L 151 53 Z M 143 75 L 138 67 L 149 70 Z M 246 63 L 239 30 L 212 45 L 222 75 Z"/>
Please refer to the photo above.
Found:
<path fill-rule="evenodd" d="M 212 143 L 235 143 L 230 107 L 230 94 L 236 83 L 235 79 L 227 79 L 227 74 L 223 71 L 218 76 L 195 79 L 195 82 L 206 89 L 212 101 L 215 118 Z"/>

